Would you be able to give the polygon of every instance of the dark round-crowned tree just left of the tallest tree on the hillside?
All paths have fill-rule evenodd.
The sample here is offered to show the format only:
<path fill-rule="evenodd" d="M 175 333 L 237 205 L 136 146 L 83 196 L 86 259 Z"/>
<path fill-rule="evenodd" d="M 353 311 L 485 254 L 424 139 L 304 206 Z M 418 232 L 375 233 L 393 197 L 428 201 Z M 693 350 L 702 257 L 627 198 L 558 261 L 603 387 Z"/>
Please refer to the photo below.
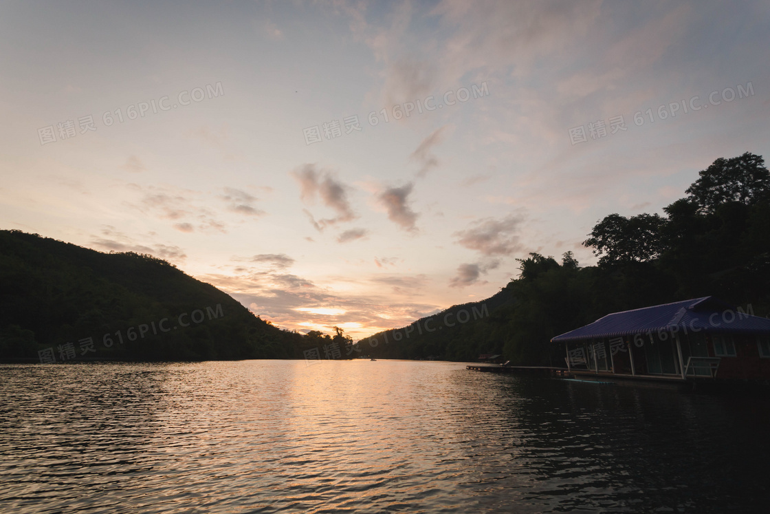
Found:
<path fill-rule="evenodd" d="M 661 228 L 666 221 L 658 214 L 639 214 L 630 218 L 618 213 L 604 217 L 583 241 L 594 247 L 601 267 L 612 264 L 647 262 L 658 258 L 663 250 Z"/>

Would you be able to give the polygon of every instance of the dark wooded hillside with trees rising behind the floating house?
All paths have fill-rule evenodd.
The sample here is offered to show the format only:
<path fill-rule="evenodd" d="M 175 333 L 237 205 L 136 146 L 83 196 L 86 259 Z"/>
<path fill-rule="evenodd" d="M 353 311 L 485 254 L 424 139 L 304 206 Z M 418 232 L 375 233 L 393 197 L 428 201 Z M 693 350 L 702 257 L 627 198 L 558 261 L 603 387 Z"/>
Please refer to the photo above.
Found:
<path fill-rule="evenodd" d="M 600 257 L 598 266 L 580 267 L 571 252 L 561 262 L 530 254 L 519 260 L 520 276 L 494 295 L 501 301 L 490 304 L 489 316 L 440 333 L 410 331 L 396 344 L 376 334 L 370 353 L 453 361 L 499 353 L 518 365 L 562 365 L 551 338 L 615 311 L 713 295 L 765 316 L 770 173 L 762 156 L 715 160 L 685 193 L 663 209 L 665 216 L 613 213 L 600 220 L 584 241 Z M 360 347 L 369 350 L 369 341 Z"/>

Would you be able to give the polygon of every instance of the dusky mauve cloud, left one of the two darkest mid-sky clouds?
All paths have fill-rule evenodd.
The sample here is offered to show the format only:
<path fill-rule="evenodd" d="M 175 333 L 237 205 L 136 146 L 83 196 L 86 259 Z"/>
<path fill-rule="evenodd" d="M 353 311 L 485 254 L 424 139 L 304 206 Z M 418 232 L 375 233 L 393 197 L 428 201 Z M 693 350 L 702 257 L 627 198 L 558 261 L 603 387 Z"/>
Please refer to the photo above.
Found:
<path fill-rule="evenodd" d="M 347 199 L 350 186 L 336 180 L 330 171 L 316 170 L 314 164 L 304 164 L 290 174 L 300 184 L 300 200 L 306 204 L 313 204 L 320 198 L 323 205 L 336 212 L 336 217 L 316 221 L 313 215 L 305 210 L 316 230 L 322 232 L 330 225 L 357 218 Z"/>

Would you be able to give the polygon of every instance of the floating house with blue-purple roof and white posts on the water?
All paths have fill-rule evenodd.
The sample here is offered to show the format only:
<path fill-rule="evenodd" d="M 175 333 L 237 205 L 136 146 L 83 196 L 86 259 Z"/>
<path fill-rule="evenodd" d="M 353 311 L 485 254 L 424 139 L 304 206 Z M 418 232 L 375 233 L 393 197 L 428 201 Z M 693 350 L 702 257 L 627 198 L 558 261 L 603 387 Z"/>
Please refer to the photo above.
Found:
<path fill-rule="evenodd" d="M 616 312 L 551 341 L 573 375 L 770 382 L 770 319 L 702 297 Z"/>

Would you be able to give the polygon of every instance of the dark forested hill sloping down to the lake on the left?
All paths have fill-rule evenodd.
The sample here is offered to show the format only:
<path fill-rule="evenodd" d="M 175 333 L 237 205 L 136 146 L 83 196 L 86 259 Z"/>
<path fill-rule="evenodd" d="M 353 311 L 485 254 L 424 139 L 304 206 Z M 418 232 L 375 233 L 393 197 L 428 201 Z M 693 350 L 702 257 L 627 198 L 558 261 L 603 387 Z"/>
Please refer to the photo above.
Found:
<path fill-rule="evenodd" d="M 301 348 L 301 334 L 165 260 L 0 230 L 0 361 L 289 358 Z"/>

